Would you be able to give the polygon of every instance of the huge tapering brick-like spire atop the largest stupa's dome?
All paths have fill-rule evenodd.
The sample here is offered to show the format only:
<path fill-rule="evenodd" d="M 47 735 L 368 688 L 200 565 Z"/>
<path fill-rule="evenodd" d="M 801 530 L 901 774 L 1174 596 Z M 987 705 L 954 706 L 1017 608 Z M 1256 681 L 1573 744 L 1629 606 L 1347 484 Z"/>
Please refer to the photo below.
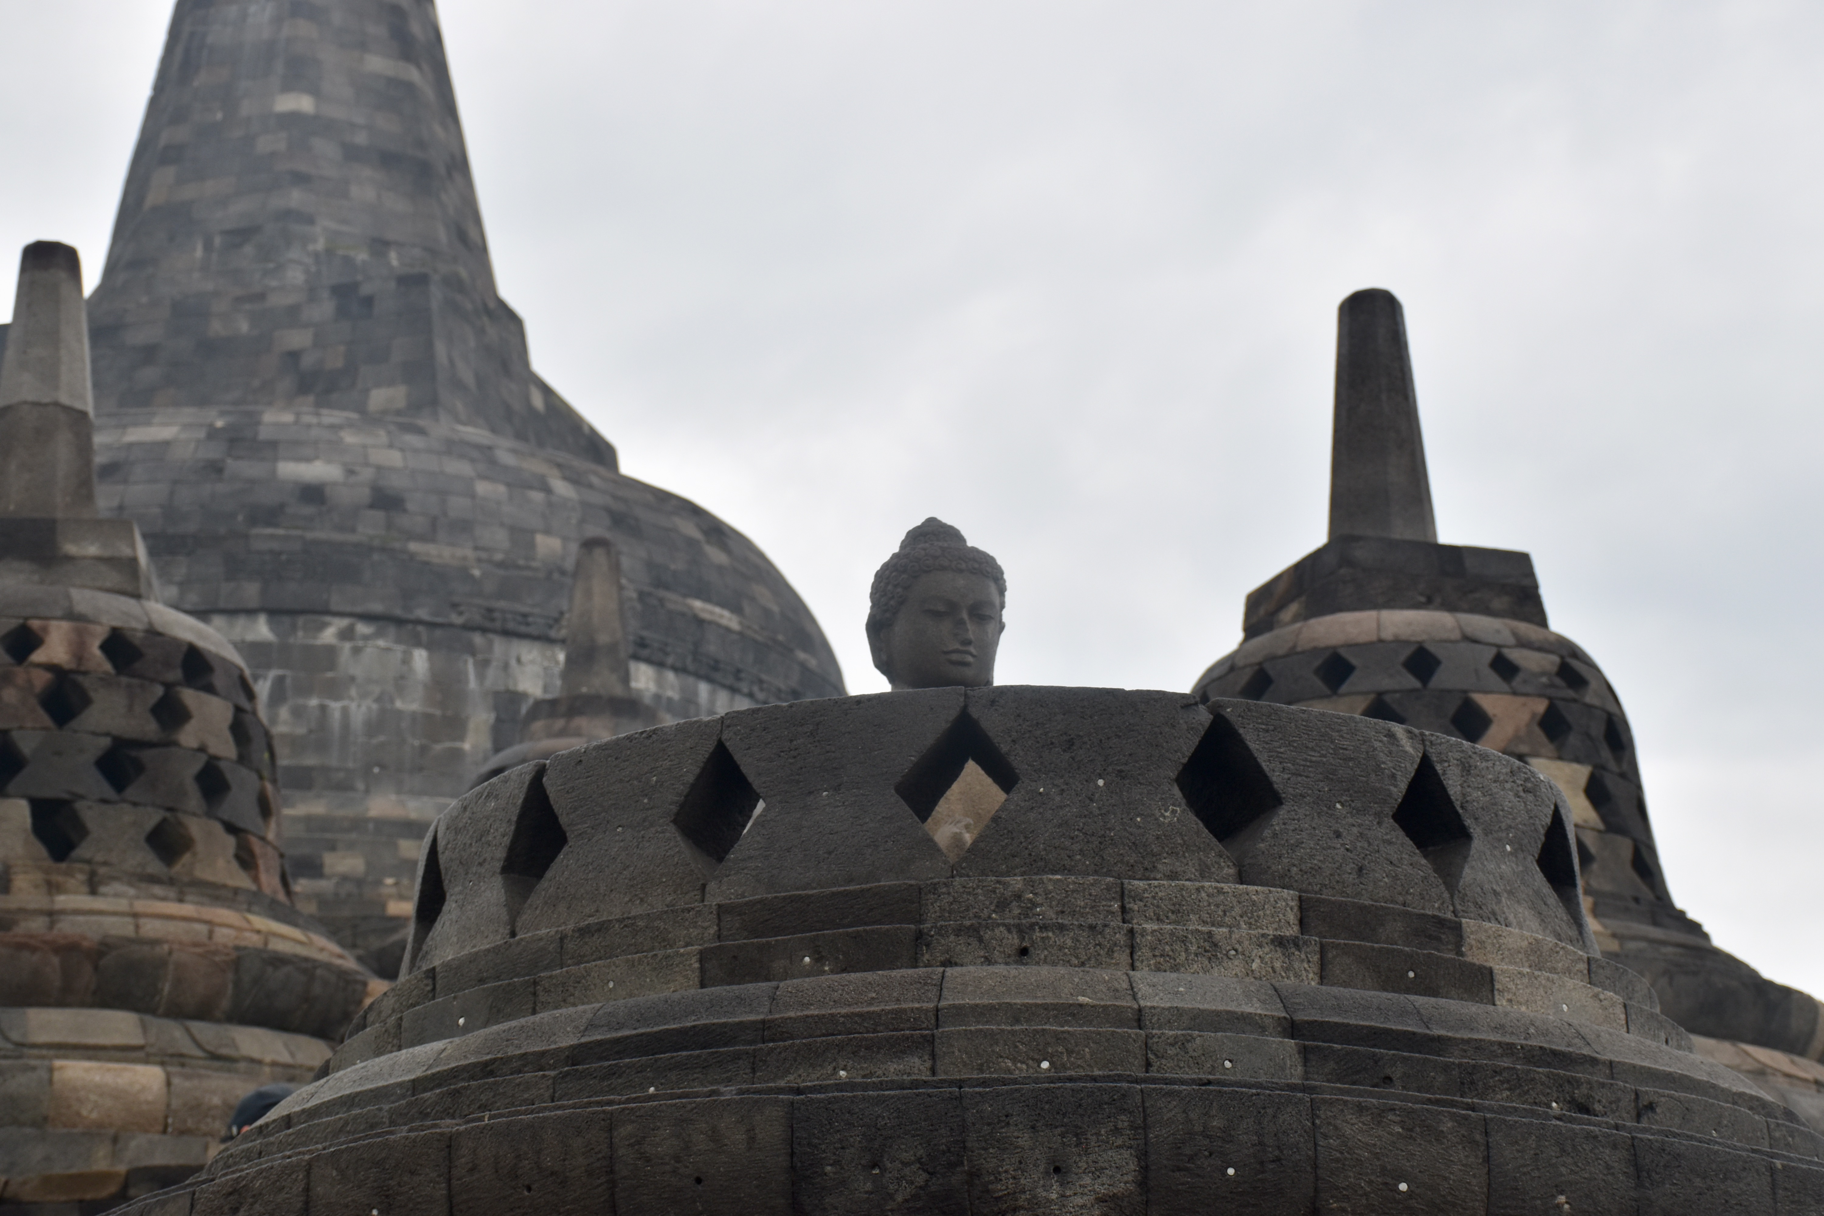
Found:
<path fill-rule="evenodd" d="M 430 0 L 179 0 L 89 310 L 102 414 L 326 408 L 615 461 L 496 294 Z"/>

